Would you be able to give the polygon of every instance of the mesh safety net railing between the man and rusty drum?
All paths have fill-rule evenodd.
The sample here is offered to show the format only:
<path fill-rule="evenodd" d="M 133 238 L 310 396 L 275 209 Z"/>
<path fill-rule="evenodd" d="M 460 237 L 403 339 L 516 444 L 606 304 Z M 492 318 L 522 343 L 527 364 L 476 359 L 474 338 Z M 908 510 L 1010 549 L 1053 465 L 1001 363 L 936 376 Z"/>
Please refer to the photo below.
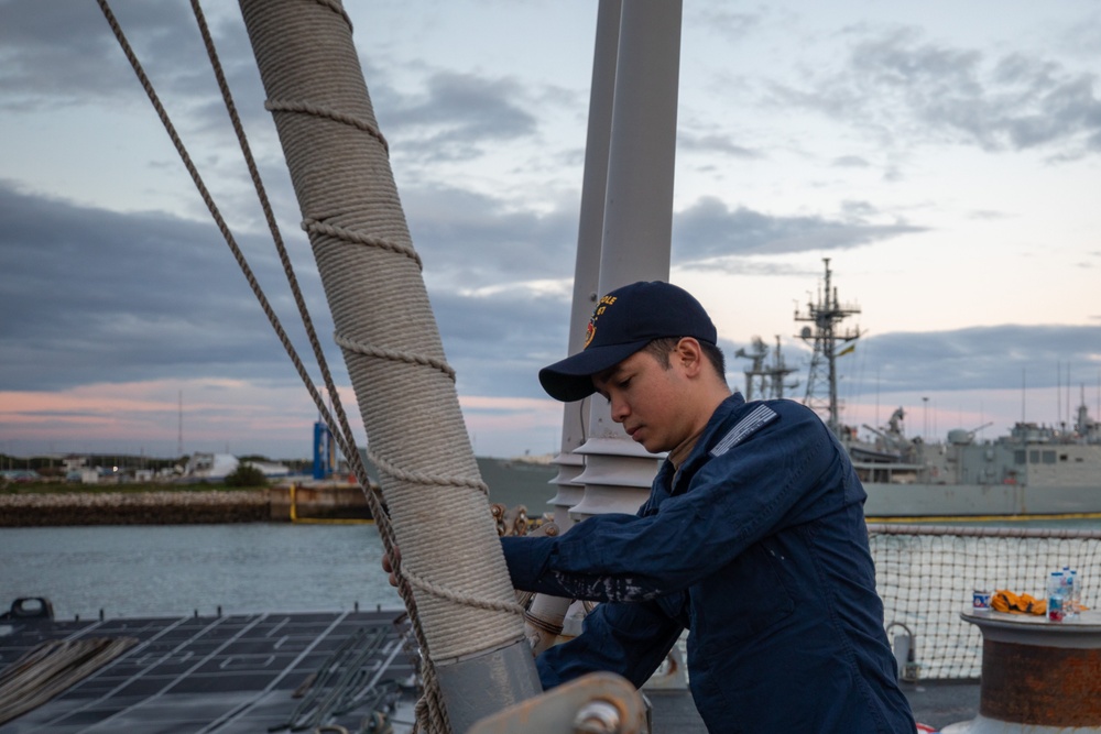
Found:
<path fill-rule="evenodd" d="M 960 618 L 975 589 L 1044 599 L 1050 572 L 1070 567 L 1078 571 L 1084 606 L 1095 609 L 1101 593 L 1101 530 L 887 524 L 868 529 L 883 621 L 904 679 L 979 678 L 982 635 Z"/>

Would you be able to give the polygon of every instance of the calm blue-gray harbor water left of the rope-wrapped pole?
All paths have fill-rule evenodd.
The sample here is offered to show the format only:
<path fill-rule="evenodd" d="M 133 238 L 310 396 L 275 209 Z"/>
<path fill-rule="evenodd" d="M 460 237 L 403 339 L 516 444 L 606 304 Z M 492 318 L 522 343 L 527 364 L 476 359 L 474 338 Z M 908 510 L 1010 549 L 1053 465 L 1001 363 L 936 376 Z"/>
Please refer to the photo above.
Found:
<path fill-rule="evenodd" d="M 0 611 L 46 596 L 58 618 L 402 609 L 372 525 L 0 529 Z"/>

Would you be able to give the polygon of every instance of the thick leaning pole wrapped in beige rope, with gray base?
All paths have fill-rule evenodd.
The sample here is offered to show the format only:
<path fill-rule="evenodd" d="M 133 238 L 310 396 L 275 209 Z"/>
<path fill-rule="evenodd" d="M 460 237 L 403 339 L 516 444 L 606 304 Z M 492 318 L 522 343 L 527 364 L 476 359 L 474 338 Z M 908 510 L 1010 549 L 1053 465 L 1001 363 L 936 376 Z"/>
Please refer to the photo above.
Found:
<path fill-rule="evenodd" d="M 339 0 L 240 7 L 402 551 L 425 723 L 466 732 L 542 686 L 351 23 Z"/>

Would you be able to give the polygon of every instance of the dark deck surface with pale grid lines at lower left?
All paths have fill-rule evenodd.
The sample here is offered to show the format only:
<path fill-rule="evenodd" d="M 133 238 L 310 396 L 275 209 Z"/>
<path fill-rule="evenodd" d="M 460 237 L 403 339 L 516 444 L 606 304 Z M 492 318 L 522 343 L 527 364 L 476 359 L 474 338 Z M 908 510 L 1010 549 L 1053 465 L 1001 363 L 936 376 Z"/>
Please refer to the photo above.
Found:
<path fill-rule="evenodd" d="M 412 654 L 400 612 L 251 614 L 0 622 L 0 669 L 50 640 L 134 638 L 137 644 L 0 734 L 290 731 L 318 710 L 358 731 L 396 699 L 395 731 L 411 719 Z M 308 684 L 308 687 L 307 687 Z M 296 690 L 299 697 L 294 698 Z M 304 726 L 303 726 L 304 727 Z"/>

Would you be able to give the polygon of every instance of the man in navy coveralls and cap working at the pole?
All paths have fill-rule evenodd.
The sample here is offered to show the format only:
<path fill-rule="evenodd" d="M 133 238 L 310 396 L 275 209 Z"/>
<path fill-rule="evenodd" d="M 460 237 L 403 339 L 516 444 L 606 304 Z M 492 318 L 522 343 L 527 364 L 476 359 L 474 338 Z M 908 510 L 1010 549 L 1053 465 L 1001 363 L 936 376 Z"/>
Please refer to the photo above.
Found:
<path fill-rule="evenodd" d="M 846 451 L 808 408 L 731 394 L 693 296 L 609 293 L 585 349 L 539 382 L 564 402 L 599 393 L 633 440 L 668 452 L 636 515 L 501 539 L 517 589 L 603 602 L 538 657 L 545 688 L 597 670 L 642 686 L 687 628 L 709 732 L 915 732 Z"/>

